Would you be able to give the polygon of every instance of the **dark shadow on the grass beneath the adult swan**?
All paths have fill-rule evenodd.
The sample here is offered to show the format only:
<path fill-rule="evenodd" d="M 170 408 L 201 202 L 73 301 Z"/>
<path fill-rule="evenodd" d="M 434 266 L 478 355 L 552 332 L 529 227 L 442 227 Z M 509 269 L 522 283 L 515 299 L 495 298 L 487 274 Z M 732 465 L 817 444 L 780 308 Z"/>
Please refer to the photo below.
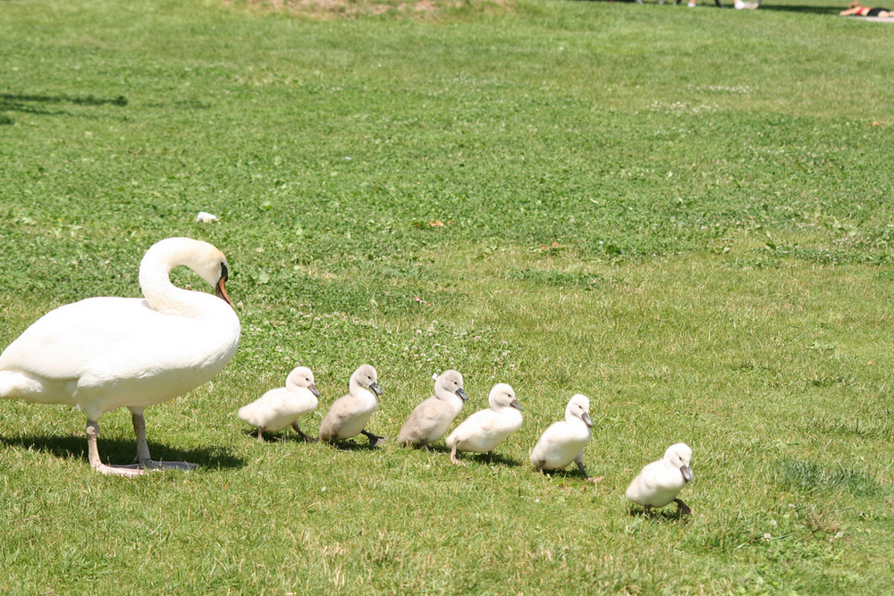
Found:
<path fill-rule="evenodd" d="M 87 436 L 48 436 L 48 435 L 24 435 L 15 438 L 0 436 L 0 445 L 3 447 L 20 447 L 22 449 L 36 449 L 63 459 L 77 458 L 87 462 Z M 134 440 L 103 439 L 99 438 L 99 456 L 104 463 L 113 465 L 128 465 L 133 461 L 137 453 L 137 443 Z M 235 457 L 228 449 L 221 447 L 208 447 L 198 449 L 173 449 L 165 445 L 148 441 L 149 451 L 152 457 L 161 461 L 188 461 L 197 464 L 200 468 L 236 468 L 245 466 L 240 457 Z"/>

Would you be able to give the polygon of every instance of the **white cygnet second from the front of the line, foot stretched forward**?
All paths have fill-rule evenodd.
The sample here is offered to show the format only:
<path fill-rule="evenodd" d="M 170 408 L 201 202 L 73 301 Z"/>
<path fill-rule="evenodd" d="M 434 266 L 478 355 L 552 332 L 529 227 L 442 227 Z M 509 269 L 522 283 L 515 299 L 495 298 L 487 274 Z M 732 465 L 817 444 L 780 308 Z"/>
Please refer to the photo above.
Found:
<path fill-rule="evenodd" d="M 591 477 L 584 468 L 584 447 L 590 441 L 592 427 L 590 400 L 578 393 L 565 407 L 565 420 L 547 428 L 531 449 L 531 463 L 543 472 L 558 470 L 573 461 L 586 480 L 598 483 L 602 478 Z"/>

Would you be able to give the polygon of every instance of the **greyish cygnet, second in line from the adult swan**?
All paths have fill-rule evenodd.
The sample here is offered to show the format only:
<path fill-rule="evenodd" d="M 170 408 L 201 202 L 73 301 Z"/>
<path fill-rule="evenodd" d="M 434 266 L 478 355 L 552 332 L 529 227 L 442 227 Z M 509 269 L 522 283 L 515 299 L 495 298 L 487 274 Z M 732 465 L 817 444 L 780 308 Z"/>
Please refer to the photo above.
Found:
<path fill-rule="evenodd" d="M 344 441 L 361 432 L 369 439 L 369 446 L 374 447 L 384 437 L 367 432 L 369 418 L 379 407 L 377 396 L 382 395 L 379 389 L 378 374 L 370 365 L 361 365 L 350 375 L 348 395 L 336 399 L 320 423 L 320 439 L 331 443 Z"/>

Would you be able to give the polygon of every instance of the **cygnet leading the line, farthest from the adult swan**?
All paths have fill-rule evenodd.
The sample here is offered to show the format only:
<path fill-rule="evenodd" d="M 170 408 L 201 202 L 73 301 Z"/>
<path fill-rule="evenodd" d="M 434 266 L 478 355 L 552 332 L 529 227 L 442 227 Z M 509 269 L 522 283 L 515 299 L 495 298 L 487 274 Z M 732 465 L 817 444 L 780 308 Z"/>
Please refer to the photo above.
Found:
<path fill-rule="evenodd" d="M 692 480 L 692 449 L 686 443 L 671 445 L 664 457 L 643 468 L 627 488 L 627 499 L 642 505 L 648 513 L 651 508 L 664 507 L 671 501 L 677 503 L 680 513 L 688 516 L 692 509 L 677 498 L 679 491 Z"/>

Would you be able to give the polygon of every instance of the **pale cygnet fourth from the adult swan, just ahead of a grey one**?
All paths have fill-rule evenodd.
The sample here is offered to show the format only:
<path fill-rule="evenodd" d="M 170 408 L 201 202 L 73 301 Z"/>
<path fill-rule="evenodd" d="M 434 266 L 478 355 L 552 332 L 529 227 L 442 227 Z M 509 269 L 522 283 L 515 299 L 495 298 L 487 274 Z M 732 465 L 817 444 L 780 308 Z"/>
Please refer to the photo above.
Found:
<path fill-rule="evenodd" d="M 504 382 L 493 385 L 487 402 L 490 407 L 468 416 L 444 441 L 451 449 L 450 460 L 453 464 L 462 464 L 456 458 L 457 451 L 493 456 L 493 449 L 521 427 L 521 404 L 515 399 L 515 391 L 509 385 Z"/>

